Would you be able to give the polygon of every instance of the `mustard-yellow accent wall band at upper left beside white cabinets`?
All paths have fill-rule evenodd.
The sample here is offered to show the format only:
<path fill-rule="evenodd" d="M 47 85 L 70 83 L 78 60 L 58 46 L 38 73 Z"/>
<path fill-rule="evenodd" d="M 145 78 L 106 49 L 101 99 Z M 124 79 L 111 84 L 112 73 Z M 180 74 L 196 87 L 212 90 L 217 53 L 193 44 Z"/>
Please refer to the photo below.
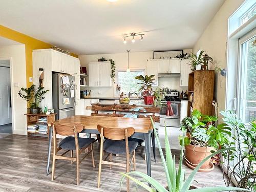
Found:
<path fill-rule="evenodd" d="M 23 33 L 19 33 L 17 31 L 14 31 L 2 25 L 0 25 L 0 36 L 25 44 L 26 79 L 27 79 L 27 87 L 30 87 L 32 85 L 32 82 L 29 82 L 29 77 L 33 77 L 33 63 L 32 63 L 33 49 L 49 49 L 51 48 L 52 45 L 47 44 L 46 42 L 37 40 Z M 71 53 L 71 55 L 78 58 L 78 55 L 74 53 Z"/>

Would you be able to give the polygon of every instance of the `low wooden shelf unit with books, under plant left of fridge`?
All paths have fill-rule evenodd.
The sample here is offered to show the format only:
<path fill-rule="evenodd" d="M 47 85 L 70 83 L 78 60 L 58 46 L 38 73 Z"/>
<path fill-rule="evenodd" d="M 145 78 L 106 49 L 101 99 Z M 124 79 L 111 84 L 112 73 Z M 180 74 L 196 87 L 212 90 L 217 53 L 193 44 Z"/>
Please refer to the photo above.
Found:
<path fill-rule="evenodd" d="M 56 113 L 46 115 L 46 114 L 25 114 L 27 116 L 27 126 L 34 125 L 34 124 L 40 124 L 42 126 L 47 127 L 47 130 L 45 132 L 40 132 L 37 130 L 35 131 L 29 131 L 27 129 L 28 136 L 31 134 L 38 134 L 39 135 L 47 135 L 49 138 L 49 124 L 53 121 L 55 121 L 55 115 Z"/>

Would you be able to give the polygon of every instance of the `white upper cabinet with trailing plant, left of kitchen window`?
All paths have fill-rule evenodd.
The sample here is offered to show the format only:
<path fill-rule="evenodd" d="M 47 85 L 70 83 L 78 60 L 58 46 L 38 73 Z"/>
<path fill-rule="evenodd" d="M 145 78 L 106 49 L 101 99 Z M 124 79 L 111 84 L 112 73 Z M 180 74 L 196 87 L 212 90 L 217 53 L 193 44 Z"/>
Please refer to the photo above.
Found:
<path fill-rule="evenodd" d="M 112 87 L 110 61 L 89 63 L 89 87 Z"/>

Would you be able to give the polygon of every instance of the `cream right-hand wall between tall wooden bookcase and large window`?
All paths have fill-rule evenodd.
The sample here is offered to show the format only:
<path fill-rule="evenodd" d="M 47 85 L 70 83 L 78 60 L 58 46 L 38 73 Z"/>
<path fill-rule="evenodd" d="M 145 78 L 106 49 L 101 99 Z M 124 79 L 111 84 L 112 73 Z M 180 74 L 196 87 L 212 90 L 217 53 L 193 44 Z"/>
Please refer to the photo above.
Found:
<path fill-rule="evenodd" d="M 226 41 L 228 36 L 228 18 L 236 11 L 244 0 L 226 0 L 220 10 L 212 18 L 201 37 L 196 42 L 193 52 L 199 49 L 206 51 L 214 59 L 214 67 L 227 67 Z M 212 67 L 211 69 L 214 69 Z M 215 98 L 219 111 L 225 109 L 226 77 L 220 73 L 215 75 Z"/>

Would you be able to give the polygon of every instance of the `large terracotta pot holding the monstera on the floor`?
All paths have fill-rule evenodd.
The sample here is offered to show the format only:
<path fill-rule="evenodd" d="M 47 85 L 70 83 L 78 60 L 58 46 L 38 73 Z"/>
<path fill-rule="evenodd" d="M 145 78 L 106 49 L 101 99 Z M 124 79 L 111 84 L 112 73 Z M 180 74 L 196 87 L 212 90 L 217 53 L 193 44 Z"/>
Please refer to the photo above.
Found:
<path fill-rule="evenodd" d="M 195 145 L 187 145 L 186 148 L 186 159 L 188 163 L 193 166 L 197 166 L 205 157 L 211 154 L 210 151 L 214 150 L 214 147 L 202 147 Z M 206 168 L 210 163 L 210 159 L 207 160 L 200 168 Z"/>

